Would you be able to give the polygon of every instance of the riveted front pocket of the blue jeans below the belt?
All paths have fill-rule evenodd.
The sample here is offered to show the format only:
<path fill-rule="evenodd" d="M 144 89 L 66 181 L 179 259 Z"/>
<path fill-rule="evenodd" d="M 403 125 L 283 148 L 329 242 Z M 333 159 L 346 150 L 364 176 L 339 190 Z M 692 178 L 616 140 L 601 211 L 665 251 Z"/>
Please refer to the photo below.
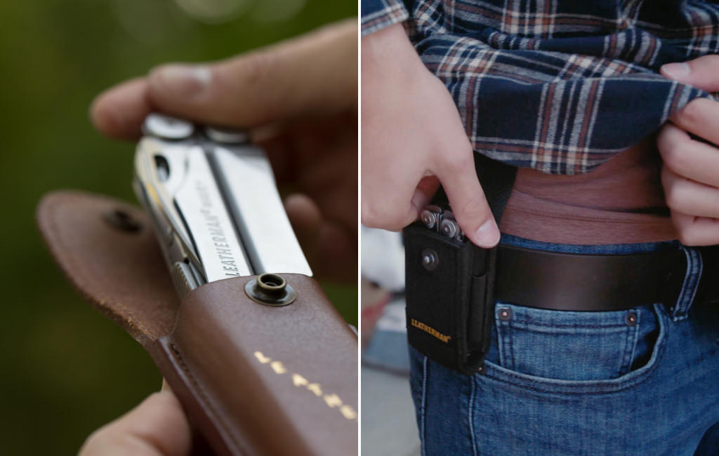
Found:
<path fill-rule="evenodd" d="M 495 306 L 487 360 L 534 381 L 616 380 L 646 366 L 659 338 L 654 306 L 567 312 Z"/>

